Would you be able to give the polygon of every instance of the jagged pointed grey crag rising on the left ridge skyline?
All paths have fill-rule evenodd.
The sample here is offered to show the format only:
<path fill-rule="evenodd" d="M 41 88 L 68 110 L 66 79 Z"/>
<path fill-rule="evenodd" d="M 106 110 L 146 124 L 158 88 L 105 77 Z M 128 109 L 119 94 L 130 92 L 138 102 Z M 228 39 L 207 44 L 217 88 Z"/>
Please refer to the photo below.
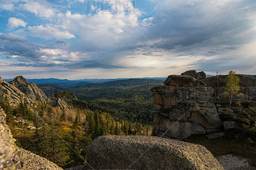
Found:
<path fill-rule="evenodd" d="M 26 97 L 29 97 L 32 101 L 42 101 L 45 103 L 48 101 L 48 97 L 42 91 L 42 89 L 38 88 L 38 85 L 33 82 L 29 83 L 22 76 L 15 77 L 14 80 L 10 81 L 9 83 L 21 90 L 22 93 L 24 93 Z"/>

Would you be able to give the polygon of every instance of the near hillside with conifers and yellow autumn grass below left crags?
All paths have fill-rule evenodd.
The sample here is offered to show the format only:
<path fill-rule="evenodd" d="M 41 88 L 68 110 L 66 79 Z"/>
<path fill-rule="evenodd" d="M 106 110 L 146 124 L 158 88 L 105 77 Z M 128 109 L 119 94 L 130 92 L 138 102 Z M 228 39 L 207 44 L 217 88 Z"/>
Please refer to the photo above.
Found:
<path fill-rule="evenodd" d="M 67 97 L 66 97 L 67 96 Z M 152 127 L 122 121 L 94 105 L 57 93 L 71 109 L 52 107 L 42 102 L 30 108 L 26 99 L 17 107 L 10 106 L 0 95 L 7 124 L 20 148 L 53 161 L 62 168 L 86 162 L 86 148 L 94 138 L 104 135 L 150 135 Z"/>

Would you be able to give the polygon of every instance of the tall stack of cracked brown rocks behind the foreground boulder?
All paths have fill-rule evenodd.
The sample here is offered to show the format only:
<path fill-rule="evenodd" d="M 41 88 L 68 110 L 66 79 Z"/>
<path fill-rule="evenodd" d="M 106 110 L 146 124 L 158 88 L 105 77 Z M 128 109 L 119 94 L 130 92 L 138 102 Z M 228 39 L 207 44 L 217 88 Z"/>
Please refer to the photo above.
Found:
<path fill-rule="evenodd" d="M 154 99 L 153 136 L 184 139 L 222 127 L 212 102 L 214 89 L 187 75 L 170 75 L 151 91 Z"/>

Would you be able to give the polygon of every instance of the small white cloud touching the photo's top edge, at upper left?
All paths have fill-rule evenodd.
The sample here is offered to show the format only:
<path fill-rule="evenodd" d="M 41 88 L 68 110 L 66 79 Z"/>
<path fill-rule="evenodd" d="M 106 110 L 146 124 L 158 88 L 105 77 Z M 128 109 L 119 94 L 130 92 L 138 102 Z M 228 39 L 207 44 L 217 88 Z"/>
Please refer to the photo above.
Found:
<path fill-rule="evenodd" d="M 53 5 L 46 0 L 23 0 L 23 2 L 26 3 L 20 5 L 22 9 L 28 10 L 40 17 L 52 18 L 55 12 L 57 12 L 57 10 L 53 8 Z"/>

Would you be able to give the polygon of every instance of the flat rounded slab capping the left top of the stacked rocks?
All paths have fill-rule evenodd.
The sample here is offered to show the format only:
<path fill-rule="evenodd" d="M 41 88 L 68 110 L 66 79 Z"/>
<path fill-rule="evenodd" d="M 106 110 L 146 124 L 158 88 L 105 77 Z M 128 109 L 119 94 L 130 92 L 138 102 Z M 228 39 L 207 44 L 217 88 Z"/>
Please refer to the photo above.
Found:
<path fill-rule="evenodd" d="M 196 80 L 194 77 L 186 75 L 170 75 L 163 82 L 165 85 L 173 85 L 178 87 L 205 87 L 206 84 Z"/>

